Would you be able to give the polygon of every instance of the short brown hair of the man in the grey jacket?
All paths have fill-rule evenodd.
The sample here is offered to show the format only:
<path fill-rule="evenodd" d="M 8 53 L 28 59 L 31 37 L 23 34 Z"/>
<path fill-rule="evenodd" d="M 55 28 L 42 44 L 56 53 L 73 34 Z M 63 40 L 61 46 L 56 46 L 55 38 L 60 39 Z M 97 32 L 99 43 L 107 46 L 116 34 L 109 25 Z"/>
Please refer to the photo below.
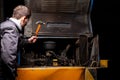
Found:
<path fill-rule="evenodd" d="M 22 16 L 26 16 L 27 18 L 30 18 L 31 11 L 27 6 L 24 5 L 18 5 L 13 10 L 12 17 L 15 17 L 16 19 L 20 19 Z"/>

